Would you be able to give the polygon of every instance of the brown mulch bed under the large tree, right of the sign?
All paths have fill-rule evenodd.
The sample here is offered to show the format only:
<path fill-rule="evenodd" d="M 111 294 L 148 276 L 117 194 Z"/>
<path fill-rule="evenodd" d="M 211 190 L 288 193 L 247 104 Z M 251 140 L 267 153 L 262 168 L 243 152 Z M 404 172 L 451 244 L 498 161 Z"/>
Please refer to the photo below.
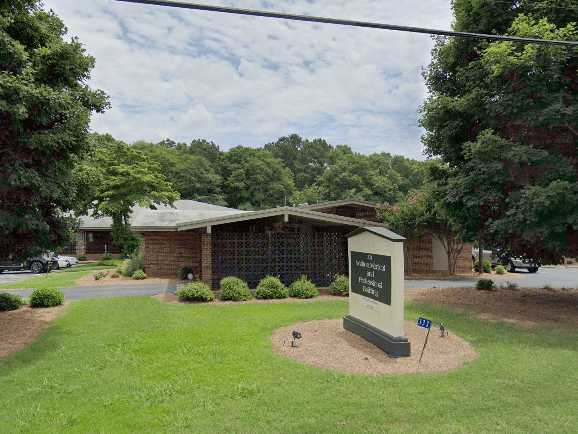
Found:
<path fill-rule="evenodd" d="M 412 290 L 408 300 L 454 306 L 477 313 L 480 318 L 523 327 L 540 324 L 578 326 L 578 292 L 519 289 L 478 291 L 474 288 Z"/>

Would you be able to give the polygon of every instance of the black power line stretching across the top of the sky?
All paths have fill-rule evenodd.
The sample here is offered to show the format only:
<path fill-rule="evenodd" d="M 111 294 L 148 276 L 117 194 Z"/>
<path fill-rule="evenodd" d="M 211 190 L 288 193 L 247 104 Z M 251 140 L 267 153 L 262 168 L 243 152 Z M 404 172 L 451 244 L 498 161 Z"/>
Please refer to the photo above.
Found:
<path fill-rule="evenodd" d="M 183 9 L 193 9 L 199 11 L 207 12 L 220 12 L 225 14 L 234 15 L 248 15 L 253 17 L 263 17 L 263 18 L 277 18 L 282 20 L 292 20 L 292 21 L 304 21 L 309 23 L 321 23 L 321 24 L 333 24 L 340 26 L 351 26 L 351 27 L 364 27 L 370 29 L 381 29 L 381 30 L 393 30 L 399 32 L 410 32 L 410 33 L 423 33 L 428 35 L 438 35 L 438 36 L 456 36 L 460 38 L 474 38 L 474 39 L 488 39 L 491 41 L 511 41 L 518 43 L 532 43 L 532 44 L 545 44 L 545 45 L 563 45 L 569 47 L 578 47 L 578 41 L 561 41 L 561 40 L 548 40 L 548 39 L 537 39 L 537 38 L 523 38 L 518 36 L 506 36 L 506 35 L 489 35 L 485 33 L 468 33 L 468 32 L 453 32 L 450 30 L 437 30 L 437 29 L 427 29 L 423 27 L 410 27 L 410 26 L 398 26 L 394 24 L 382 24 L 382 23 L 372 23 L 366 21 L 354 21 L 354 20 L 342 20 L 336 18 L 325 18 L 316 17 L 309 15 L 296 15 L 288 14 L 283 12 L 269 12 L 263 10 L 254 9 L 240 9 L 232 8 L 226 6 L 212 6 L 204 5 L 199 3 L 188 3 L 179 0 L 117 0 L 128 3 L 140 3 L 146 5 L 156 5 L 156 6 L 168 6 Z"/>

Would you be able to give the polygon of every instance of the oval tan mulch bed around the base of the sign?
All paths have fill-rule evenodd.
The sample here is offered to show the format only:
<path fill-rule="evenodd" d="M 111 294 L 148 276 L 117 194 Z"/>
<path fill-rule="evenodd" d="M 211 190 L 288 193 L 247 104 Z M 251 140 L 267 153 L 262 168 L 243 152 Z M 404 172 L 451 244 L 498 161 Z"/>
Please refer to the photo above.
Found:
<path fill-rule="evenodd" d="M 303 339 L 291 347 L 291 332 L 298 330 Z M 276 330 L 271 337 L 273 350 L 318 368 L 348 374 L 383 375 L 447 372 L 478 357 L 472 346 L 450 333 L 442 338 L 432 330 L 428 347 L 418 365 L 426 331 L 407 321 L 405 333 L 411 343 L 411 356 L 390 358 L 376 346 L 343 328 L 342 320 L 307 321 Z"/>

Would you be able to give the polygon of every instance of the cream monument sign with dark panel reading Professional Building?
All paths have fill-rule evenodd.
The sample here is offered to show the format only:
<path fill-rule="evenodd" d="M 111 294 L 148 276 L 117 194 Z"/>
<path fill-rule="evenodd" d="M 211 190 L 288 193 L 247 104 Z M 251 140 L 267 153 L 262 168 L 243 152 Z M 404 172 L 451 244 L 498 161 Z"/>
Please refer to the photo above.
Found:
<path fill-rule="evenodd" d="M 404 240 L 382 227 L 349 236 L 349 315 L 343 327 L 392 357 L 410 355 L 404 336 Z"/>

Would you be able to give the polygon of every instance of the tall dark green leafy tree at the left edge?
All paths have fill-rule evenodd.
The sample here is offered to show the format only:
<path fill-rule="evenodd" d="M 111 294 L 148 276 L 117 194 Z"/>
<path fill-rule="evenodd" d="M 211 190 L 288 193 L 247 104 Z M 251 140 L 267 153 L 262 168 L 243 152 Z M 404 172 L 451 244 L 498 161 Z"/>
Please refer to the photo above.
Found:
<path fill-rule="evenodd" d="M 94 59 L 38 0 L 0 1 L 0 252 L 25 257 L 68 241 L 71 169 L 106 95 Z"/>

